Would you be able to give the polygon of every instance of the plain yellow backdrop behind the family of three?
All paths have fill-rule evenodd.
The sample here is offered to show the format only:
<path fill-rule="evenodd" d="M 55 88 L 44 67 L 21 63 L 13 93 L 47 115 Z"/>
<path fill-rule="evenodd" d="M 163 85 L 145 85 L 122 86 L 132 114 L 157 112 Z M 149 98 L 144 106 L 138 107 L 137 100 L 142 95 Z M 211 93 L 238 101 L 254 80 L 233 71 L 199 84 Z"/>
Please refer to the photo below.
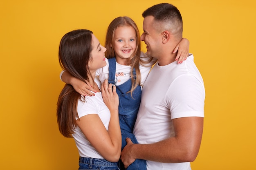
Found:
<path fill-rule="evenodd" d="M 169 2 L 182 13 L 206 89 L 202 145 L 193 170 L 255 170 L 254 0 L 4 0 L 0 4 L 0 169 L 76 170 L 78 151 L 56 122 L 58 44 L 90 29 L 104 45 L 108 24 Z M 144 43 L 142 43 L 144 44 Z M 143 46 L 145 50 L 145 46 Z M 177 89 L 182 91 L 182 89 Z M 99 138 L 100 139 L 100 138 Z"/>

